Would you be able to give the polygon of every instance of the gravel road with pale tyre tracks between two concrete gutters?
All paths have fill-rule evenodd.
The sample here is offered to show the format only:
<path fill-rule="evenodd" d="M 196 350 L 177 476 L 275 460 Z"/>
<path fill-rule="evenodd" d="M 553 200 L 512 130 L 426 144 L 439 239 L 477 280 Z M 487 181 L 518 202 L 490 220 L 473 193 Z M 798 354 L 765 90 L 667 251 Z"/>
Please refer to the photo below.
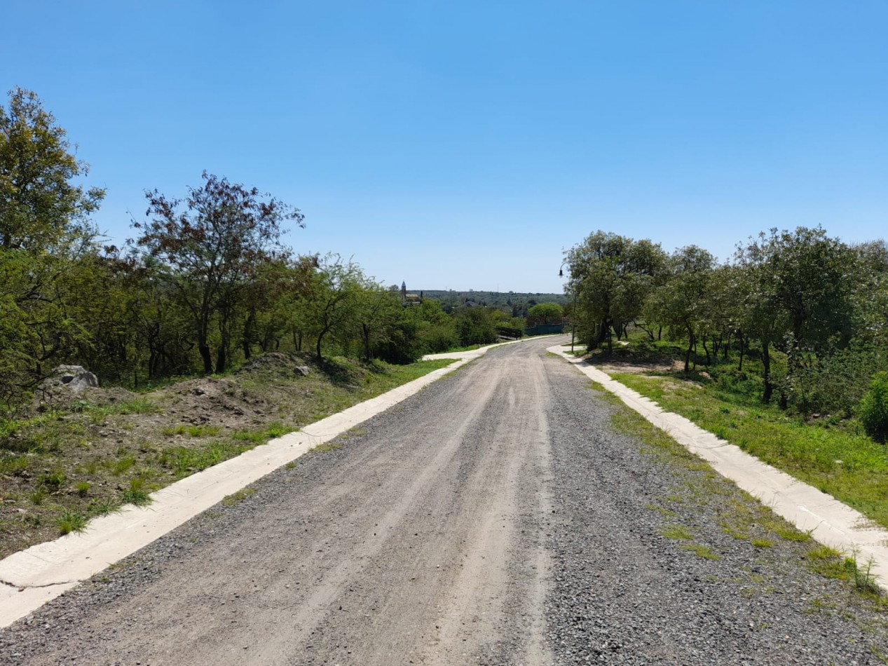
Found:
<path fill-rule="evenodd" d="M 0 631 L 0 663 L 885 663 L 884 606 L 552 344 L 260 480 Z"/>

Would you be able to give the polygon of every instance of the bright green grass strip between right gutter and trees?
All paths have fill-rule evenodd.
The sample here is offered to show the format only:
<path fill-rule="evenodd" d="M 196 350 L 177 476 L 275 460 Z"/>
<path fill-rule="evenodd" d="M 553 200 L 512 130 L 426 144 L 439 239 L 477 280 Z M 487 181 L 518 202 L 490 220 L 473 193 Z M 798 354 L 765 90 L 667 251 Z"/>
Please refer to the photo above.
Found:
<path fill-rule="evenodd" d="M 805 424 L 752 395 L 705 381 L 633 374 L 614 379 L 888 527 L 888 448 L 865 435 Z"/>

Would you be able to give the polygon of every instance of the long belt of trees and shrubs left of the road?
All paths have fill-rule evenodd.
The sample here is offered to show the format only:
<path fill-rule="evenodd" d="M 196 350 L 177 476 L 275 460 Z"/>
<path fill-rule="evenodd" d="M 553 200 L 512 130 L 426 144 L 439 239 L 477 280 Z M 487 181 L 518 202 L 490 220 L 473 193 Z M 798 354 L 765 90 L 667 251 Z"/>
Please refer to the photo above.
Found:
<path fill-rule="evenodd" d="M 28 416 L 62 364 L 133 391 L 269 352 L 408 364 L 523 330 L 540 305 L 435 300 L 300 254 L 284 242 L 300 210 L 206 171 L 180 196 L 148 190 L 131 240 L 105 245 L 105 192 L 79 185 L 88 166 L 32 91 L 0 106 L 0 165 L 0 418 Z"/>

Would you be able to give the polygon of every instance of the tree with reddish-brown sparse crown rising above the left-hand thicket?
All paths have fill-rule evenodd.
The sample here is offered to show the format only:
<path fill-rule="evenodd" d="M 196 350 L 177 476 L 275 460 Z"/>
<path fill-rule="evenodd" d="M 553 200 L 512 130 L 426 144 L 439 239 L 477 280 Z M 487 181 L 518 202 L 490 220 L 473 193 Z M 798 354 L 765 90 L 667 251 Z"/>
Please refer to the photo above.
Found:
<path fill-rule="evenodd" d="M 303 214 L 256 187 L 246 188 L 203 172 L 201 187 L 188 189 L 183 201 L 147 192 L 146 215 L 133 222 L 139 247 L 167 266 L 163 279 L 172 284 L 194 322 L 204 372 L 213 370 L 210 329 L 218 329 L 216 371 L 226 369 L 235 315 L 245 288 L 281 244 L 281 223 L 305 226 Z"/>

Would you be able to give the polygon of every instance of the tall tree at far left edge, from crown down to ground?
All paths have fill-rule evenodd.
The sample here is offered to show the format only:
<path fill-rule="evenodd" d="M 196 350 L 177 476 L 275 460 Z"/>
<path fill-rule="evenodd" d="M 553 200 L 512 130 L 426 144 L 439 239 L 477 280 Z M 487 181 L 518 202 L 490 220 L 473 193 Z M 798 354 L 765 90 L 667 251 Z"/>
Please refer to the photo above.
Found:
<path fill-rule="evenodd" d="M 0 107 L 0 397 L 14 406 L 45 363 L 87 337 L 69 295 L 75 267 L 96 251 L 88 217 L 105 193 L 72 183 L 87 165 L 36 94 L 9 95 Z"/>

